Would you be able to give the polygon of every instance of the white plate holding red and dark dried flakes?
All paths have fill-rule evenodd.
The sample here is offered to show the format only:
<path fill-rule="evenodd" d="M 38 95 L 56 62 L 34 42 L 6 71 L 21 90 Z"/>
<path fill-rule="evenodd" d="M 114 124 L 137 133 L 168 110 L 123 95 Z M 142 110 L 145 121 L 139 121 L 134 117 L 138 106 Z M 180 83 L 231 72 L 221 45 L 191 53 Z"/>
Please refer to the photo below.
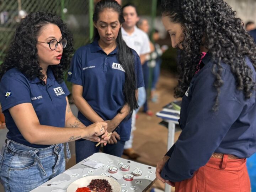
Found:
<path fill-rule="evenodd" d="M 106 179 L 111 187 L 113 192 L 120 192 L 121 191 L 121 186 L 119 185 L 119 183 L 110 178 L 110 177 L 106 177 L 106 176 L 89 176 L 89 177 L 82 177 L 76 181 L 74 181 L 73 183 L 71 183 L 66 192 L 75 192 L 77 190 L 78 187 L 87 187 L 87 185 L 89 185 L 89 183 L 91 182 L 91 180 L 93 179 Z"/>

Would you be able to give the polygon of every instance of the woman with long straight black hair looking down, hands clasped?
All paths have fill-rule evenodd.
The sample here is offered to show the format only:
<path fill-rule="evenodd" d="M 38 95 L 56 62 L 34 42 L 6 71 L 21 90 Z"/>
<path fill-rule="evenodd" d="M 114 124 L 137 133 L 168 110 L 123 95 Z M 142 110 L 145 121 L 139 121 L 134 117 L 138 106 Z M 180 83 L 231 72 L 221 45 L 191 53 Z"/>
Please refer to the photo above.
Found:
<path fill-rule="evenodd" d="M 86 126 L 108 123 L 113 132 L 103 152 L 121 156 L 129 140 L 132 111 L 137 108 L 136 91 L 144 86 L 140 58 L 122 39 L 121 6 L 102 0 L 95 6 L 94 42 L 79 48 L 72 60 L 68 80 L 79 109 L 78 119 Z M 100 146 L 84 139 L 76 142 L 76 162 L 99 151 Z"/>

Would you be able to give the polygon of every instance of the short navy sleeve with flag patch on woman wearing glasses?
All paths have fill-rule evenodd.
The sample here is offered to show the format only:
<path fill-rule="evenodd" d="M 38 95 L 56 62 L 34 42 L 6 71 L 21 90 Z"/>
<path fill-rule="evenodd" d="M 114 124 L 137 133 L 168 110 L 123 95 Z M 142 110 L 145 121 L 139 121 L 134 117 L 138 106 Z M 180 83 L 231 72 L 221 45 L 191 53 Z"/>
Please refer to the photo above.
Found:
<path fill-rule="evenodd" d="M 31 103 L 30 86 L 25 77 L 4 77 L 0 83 L 2 111 L 21 103 Z"/>

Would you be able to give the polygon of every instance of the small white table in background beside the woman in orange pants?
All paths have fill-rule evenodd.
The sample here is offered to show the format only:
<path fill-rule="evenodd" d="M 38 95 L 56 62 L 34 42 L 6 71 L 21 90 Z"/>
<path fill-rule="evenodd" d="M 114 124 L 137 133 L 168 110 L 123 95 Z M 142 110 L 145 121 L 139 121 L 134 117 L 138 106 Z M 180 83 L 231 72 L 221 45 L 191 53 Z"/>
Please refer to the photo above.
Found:
<path fill-rule="evenodd" d="M 169 113 L 168 110 L 163 109 L 160 112 L 156 113 L 156 116 L 162 118 L 164 122 L 166 122 L 168 128 L 168 139 L 167 139 L 167 151 L 171 148 L 174 144 L 174 136 L 175 136 L 175 127 L 178 125 L 178 118 L 174 118 L 172 113 Z M 165 184 L 165 192 L 170 192 L 171 186 Z"/>

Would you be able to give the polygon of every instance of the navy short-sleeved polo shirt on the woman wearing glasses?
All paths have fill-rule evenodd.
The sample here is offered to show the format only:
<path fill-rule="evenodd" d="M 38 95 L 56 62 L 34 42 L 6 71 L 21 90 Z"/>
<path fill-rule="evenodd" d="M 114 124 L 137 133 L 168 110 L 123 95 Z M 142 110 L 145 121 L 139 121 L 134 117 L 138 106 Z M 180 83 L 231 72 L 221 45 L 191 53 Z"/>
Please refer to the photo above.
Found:
<path fill-rule="evenodd" d="M 47 70 L 47 85 L 35 78 L 28 80 L 16 68 L 8 70 L 0 82 L 0 102 L 5 115 L 7 138 L 33 148 L 50 145 L 30 144 L 25 140 L 11 117 L 9 108 L 21 103 L 32 103 L 41 125 L 65 127 L 66 96 L 69 95 L 65 82 L 58 83 L 52 70 Z"/>

